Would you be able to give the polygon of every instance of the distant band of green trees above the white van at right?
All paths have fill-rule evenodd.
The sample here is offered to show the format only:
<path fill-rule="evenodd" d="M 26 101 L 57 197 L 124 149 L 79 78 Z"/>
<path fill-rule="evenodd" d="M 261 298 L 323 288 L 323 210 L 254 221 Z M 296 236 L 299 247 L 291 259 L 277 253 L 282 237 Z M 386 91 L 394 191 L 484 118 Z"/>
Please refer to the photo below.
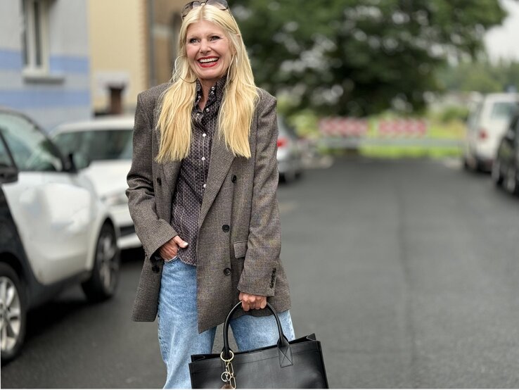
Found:
<path fill-rule="evenodd" d="M 449 91 L 477 91 L 482 94 L 504 92 L 510 87 L 519 90 L 519 63 L 486 60 L 464 62 L 444 67 L 438 72 L 440 86 Z"/>

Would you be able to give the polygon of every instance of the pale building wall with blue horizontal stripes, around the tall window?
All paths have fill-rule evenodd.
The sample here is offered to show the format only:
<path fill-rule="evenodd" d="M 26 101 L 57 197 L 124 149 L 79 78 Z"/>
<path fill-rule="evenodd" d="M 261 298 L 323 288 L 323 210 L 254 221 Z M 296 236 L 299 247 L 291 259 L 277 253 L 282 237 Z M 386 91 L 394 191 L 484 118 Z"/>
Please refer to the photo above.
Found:
<path fill-rule="evenodd" d="M 0 1 L 0 106 L 23 111 L 46 130 L 91 116 L 87 0 L 47 0 L 49 68 L 23 62 L 22 0 Z"/>

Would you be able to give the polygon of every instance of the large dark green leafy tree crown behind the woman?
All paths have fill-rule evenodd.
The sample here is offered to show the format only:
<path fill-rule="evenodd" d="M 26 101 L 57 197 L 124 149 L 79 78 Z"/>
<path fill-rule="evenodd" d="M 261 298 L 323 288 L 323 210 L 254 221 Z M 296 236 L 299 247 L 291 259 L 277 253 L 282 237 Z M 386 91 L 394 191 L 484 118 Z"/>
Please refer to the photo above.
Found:
<path fill-rule="evenodd" d="M 256 82 L 287 111 L 421 110 L 447 58 L 473 58 L 505 11 L 498 0 L 231 1 Z"/>

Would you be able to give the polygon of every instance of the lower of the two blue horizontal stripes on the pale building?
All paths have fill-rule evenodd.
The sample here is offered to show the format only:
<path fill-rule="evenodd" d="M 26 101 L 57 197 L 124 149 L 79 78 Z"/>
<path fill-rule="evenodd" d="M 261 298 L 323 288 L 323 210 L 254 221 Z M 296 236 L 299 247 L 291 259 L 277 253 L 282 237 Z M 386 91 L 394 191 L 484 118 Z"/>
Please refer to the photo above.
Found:
<path fill-rule="evenodd" d="M 90 106 L 89 91 L 1 91 L 0 106 L 24 110 L 27 108 Z"/>

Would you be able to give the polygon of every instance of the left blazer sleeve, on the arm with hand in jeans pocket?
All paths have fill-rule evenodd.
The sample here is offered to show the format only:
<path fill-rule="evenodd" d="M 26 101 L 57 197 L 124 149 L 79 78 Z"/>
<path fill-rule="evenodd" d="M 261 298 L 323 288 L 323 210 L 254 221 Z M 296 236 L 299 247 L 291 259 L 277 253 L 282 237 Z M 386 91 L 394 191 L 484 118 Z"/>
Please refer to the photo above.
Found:
<path fill-rule="evenodd" d="M 135 232 L 150 260 L 156 258 L 160 246 L 177 235 L 169 222 L 158 218 L 153 187 L 153 110 L 155 100 L 137 98 L 133 137 L 132 168 L 127 175 L 128 206 Z"/>

